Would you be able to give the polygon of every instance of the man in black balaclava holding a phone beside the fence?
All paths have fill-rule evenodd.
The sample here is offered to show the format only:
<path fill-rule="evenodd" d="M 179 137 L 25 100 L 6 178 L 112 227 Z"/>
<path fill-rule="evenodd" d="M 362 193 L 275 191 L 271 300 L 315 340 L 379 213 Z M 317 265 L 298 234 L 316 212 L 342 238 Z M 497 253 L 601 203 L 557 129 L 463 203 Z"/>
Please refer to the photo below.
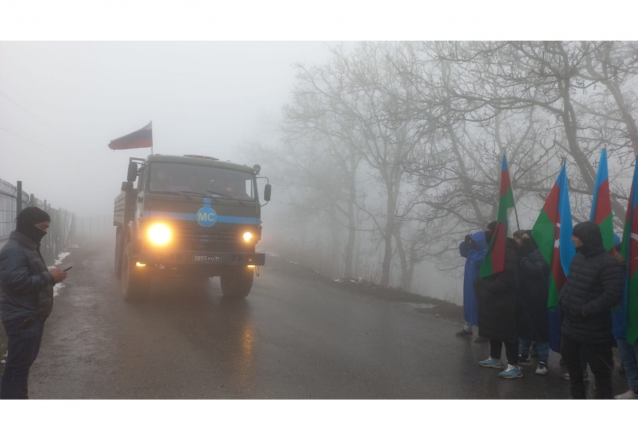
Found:
<path fill-rule="evenodd" d="M 53 285 L 66 279 L 66 271 L 48 271 L 40 254 L 50 220 L 37 207 L 24 209 L 0 249 L 0 321 L 9 339 L 0 399 L 28 398 L 29 369 L 53 309 Z"/>

